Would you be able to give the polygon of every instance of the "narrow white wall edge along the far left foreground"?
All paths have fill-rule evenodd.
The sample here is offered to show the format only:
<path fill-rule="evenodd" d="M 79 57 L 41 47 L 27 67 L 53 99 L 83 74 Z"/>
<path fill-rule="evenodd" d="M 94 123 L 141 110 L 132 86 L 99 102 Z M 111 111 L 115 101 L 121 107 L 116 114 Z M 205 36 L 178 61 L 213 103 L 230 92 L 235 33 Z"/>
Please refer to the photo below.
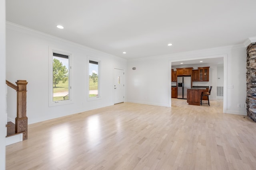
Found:
<path fill-rule="evenodd" d="M 5 136 L 6 136 L 6 52 L 5 52 L 5 0 L 0 0 L 0 169 L 5 169 Z"/>

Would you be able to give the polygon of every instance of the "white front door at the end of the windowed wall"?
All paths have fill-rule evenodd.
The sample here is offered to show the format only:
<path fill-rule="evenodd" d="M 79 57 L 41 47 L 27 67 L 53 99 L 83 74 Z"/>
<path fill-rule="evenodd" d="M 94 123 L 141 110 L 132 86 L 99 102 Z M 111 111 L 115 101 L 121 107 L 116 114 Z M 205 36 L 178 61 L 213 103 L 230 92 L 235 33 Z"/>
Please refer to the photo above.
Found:
<path fill-rule="evenodd" d="M 124 70 L 114 68 L 114 104 L 124 102 Z"/>

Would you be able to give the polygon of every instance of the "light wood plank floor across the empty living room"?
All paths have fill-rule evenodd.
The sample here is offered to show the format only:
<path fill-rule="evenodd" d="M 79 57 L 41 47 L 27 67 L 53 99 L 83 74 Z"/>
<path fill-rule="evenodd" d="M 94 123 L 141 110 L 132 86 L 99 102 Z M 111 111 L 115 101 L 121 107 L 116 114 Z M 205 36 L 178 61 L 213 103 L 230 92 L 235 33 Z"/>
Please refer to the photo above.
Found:
<path fill-rule="evenodd" d="M 6 169 L 255 170 L 256 123 L 210 104 L 123 103 L 31 124 L 6 147 Z"/>

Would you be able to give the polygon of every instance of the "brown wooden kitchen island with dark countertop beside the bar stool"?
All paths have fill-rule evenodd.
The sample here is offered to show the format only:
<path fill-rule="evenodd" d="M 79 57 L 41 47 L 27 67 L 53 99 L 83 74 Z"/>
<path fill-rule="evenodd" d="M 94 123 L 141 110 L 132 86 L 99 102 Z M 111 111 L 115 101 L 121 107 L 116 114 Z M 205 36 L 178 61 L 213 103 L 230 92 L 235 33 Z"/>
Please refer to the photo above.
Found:
<path fill-rule="evenodd" d="M 190 105 L 200 106 L 201 94 L 206 88 L 192 87 L 187 88 L 187 102 Z"/>

